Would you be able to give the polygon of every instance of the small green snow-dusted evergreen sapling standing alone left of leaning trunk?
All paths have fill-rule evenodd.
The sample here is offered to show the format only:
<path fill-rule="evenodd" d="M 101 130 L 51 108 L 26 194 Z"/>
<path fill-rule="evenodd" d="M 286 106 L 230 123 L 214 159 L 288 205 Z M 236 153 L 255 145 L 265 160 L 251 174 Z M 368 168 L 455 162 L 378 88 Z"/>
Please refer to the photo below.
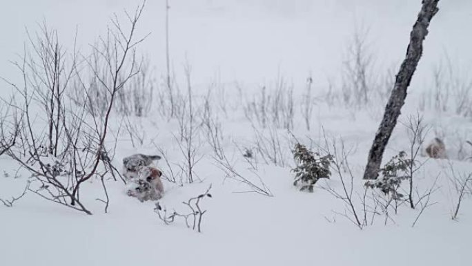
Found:
<path fill-rule="evenodd" d="M 292 153 L 293 158 L 297 161 L 297 167 L 292 169 L 295 173 L 293 184 L 295 186 L 301 184 L 300 191 L 313 192 L 313 186 L 320 178 L 330 178 L 331 155 L 320 156 L 299 143 L 295 144 Z"/>

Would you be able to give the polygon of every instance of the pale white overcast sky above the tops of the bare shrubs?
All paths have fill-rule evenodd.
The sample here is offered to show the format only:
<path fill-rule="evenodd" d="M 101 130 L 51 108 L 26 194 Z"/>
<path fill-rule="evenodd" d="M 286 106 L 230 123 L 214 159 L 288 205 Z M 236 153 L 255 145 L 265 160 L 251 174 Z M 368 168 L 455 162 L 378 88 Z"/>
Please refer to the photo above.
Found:
<path fill-rule="evenodd" d="M 46 19 L 66 46 L 79 27 L 87 48 L 113 12 L 134 8 L 135 0 L 17 0 L 0 8 L 0 75 L 21 53 L 25 28 Z M 421 0 L 170 0 L 171 52 L 178 71 L 185 59 L 197 82 L 215 73 L 224 81 L 264 82 L 277 71 L 294 80 L 312 73 L 315 80 L 339 72 L 355 25 L 369 28 L 369 45 L 383 65 L 398 63 Z M 472 1 L 442 0 L 426 41 L 420 72 L 431 70 L 445 53 L 457 64 L 472 59 Z M 157 70 L 164 68 L 164 0 L 148 0 L 139 32 L 152 35 L 141 46 Z M 0 87 L 1 88 L 1 87 Z"/>

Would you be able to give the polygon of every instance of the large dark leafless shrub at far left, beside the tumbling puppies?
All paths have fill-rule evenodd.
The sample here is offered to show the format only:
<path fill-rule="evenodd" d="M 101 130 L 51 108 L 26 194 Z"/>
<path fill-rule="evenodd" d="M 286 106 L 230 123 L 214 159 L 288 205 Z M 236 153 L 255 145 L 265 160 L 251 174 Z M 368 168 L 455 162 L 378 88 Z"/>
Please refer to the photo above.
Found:
<path fill-rule="evenodd" d="M 29 187 L 28 191 L 92 214 L 81 201 L 81 185 L 95 176 L 104 185 L 104 176 L 110 171 L 106 166 L 110 158 L 105 146 L 108 124 L 117 92 L 139 73 L 135 47 L 143 39 L 134 41 L 134 34 L 143 8 L 144 4 L 132 16 L 127 13 L 128 30 L 117 17 L 112 19 L 106 37 L 92 46 L 92 56 L 81 57 L 80 67 L 79 53 L 74 51 L 68 61 L 57 34 L 46 27 L 41 28 L 38 40 L 32 41 L 36 54 L 25 53 L 22 61 L 15 63 L 23 76 L 21 86 L 10 83 L 22 100 L 16 104 L 18 116 L 14 126 L 19 129 L 20 142 L 6 154 L 32 174 L 31 184 L 35 187 Z M 108 106 L 103 116 L 95 113 L 87 116 L 87 101 L 80 106 L 66 105 L 64 92 L 71 89 L 72 73 L 81 84 L 75 89 L 83 89 L 83 95 L 90 95 L 90 89 L 95 88 L 86 85 L 93 84 L 86 82 L 87 75 L 92 75 L 92 80 L 98 81 L 106 92 Z M 41 115 L 37 108 L 43 108 L 46 130 L 37 120 Z M 2 139 L 1 143 L 4 146 L 6 140 Z M 105 185 L 104 190 L 108 207 Z"/>

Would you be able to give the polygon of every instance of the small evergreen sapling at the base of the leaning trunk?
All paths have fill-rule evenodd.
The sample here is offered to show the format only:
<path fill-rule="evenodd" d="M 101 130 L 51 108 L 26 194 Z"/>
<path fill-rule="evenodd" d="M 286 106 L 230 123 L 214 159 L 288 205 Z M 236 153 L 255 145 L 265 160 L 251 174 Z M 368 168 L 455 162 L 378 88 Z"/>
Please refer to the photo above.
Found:
<path fill-rule="evenodd" d="M 400 151 L 398 155 L 393 156 L 393 158 L 380 169 L 380 173 L 382 174 L 381 178 L 368 180 L 365 185 L 371 189 L 380 189 L 380 191 L 386 195 L 390 195 L 394 200 L 400 200 L 404 195 L 398 193 L 398 189 L 403 180 L 411 178 L 408 171 L 412 167 L 412 164 L 413 162 L 411 160 L 406 159 L 406 153 Z"/>

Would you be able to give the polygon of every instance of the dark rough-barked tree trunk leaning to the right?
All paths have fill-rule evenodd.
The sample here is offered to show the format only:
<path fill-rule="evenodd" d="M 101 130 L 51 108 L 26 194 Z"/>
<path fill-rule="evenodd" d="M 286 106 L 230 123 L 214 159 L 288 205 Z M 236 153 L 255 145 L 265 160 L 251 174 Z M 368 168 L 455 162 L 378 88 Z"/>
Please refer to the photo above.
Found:
<path fill-rule="evenodd" d="M 418 62 L 423 53 L 423 41 L 428 35 L 428 26 L 436 14 L 437 2 L 439 0 L 423 0 L 422 8 L 418 14 L 418 18 L 413 25 L 413 30 L 410 34 L 410 44 L 406 50 L 406 58 L 404 59 L 400 70 L 395 79 L 395 86 L 390 95 L 389 102 L 385 107 L 384 118 L 380 123 L 379 129 L 375 134 L 375 139 L 368 153 L 368 162 L 364 172 L 364 179 L 377 178 L 382 157 L 384 155 L 385 146 L 389 143 L 397 119 L 400 116 L 400 111 L 405 103 L 406 89 L 410 86 L 411 78 L 415 73 Z"/>

